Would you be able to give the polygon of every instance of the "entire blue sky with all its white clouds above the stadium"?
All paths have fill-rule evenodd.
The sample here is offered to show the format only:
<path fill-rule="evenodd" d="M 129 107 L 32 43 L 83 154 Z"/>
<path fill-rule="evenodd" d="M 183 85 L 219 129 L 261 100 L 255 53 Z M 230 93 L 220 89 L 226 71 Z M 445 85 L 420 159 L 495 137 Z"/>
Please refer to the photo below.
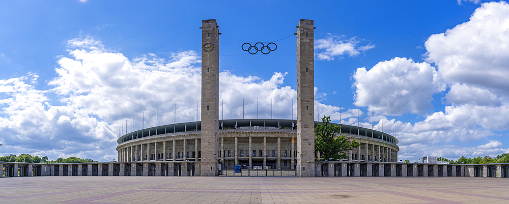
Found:
<path fill-rule="evenodd" d="M 274 118 L 292 117 L 292 34 L 313 19 L 321 115 L 384 120 L 400 159 L 496 156 L 509 152 L 508 14 L 505 2 L 452 0 L 3 2 L 0 154 L 107 161 L 119 126 L 140 129 L 142 112 L 145 127 L 156 108 L 173 123 L 175 104 L 177 122 L 196 120 L 199 27 L 214 18 L 225 119 L 242 118 L 242 98 L 246 118 L 257 98 L 261 118 L 271 98 Z M 240 48 L 276 40 L 268 55 Z"/>

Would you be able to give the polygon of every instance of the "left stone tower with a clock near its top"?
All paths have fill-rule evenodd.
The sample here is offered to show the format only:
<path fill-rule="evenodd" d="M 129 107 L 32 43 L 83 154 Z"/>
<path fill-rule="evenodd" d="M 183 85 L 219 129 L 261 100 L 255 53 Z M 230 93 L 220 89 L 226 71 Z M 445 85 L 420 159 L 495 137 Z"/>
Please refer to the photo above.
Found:
<path fill-rule="evenodd" d="M 219 26 L 202 20 L 202 145 L 201 176 L 218 176 Z"/>

